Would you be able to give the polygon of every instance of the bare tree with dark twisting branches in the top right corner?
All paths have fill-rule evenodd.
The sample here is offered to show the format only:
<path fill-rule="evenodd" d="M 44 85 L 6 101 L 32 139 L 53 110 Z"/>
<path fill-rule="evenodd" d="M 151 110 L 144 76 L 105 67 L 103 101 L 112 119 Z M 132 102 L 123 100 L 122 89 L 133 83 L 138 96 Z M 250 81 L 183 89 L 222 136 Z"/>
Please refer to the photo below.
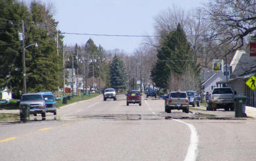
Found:
<path fill-rule="evenodd" d="M 231 45 L 225 55 L 241 48 L 246 36 L 256 29 L 255 1 L 214 0 L 202 10 L 209 29 L 208 40 L 222 46 Z"/>

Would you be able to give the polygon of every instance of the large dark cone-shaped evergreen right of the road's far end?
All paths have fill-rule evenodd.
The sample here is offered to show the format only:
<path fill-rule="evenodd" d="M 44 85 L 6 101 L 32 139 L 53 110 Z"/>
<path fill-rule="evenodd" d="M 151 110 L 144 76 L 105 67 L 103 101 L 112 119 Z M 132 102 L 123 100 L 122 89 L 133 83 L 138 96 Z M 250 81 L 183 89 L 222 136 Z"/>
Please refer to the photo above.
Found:
<path fill-rule="evenodd" d="M 166 89 L 171 73 L 180 77 L 187 69 L 197 70 L 185 33 L 178 24 L 177 29 L 167 34 L 157 54 L 158 61 L 151 71 L 156 86 Z M 197 72 L 196 72 L 197 73 Z"/>

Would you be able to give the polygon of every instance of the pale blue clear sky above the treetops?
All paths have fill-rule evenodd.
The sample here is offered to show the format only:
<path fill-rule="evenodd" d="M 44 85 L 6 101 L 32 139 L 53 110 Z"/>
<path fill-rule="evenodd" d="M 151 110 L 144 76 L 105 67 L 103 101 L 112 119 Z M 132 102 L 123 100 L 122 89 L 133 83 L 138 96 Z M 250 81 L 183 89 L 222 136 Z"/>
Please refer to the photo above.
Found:
<path fill-rule="evenodd" d="M 41 0 L 55 6 L 54 18 L 62 33 L 155 35 L 154 18 L 173 5 L 200 7 L 206 0 Z M 105 50 L 133 53 L 145 38 L 64 34 L 64 44 L 85 45 L 90 38 Z"/>

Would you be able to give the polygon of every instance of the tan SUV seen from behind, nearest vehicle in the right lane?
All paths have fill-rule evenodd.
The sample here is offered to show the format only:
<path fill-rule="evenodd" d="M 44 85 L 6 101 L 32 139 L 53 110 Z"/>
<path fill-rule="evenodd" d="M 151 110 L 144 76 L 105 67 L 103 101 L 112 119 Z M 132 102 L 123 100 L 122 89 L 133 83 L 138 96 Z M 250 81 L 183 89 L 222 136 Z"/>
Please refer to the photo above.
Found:
<path fill-rule="evenodd" d="M 165 112 L 171 113 L 171 110 L 178 109 L 189 113 L 189 101 L 187 92 L 172 91 L 165 96 Z"/>

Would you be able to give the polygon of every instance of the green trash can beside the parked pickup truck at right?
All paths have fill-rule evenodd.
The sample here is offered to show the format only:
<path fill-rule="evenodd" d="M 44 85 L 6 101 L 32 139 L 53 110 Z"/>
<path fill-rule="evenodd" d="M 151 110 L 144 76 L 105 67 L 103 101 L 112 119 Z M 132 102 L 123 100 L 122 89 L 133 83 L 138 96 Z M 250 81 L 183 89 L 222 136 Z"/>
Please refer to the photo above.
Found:
<path fill-rule="evenodd" d="M 245 113 L 246 101 L 247 101 L 246 96 L 236 96 L 234 98 L 235 117 L 246 117 L 246 113 Z"/>

